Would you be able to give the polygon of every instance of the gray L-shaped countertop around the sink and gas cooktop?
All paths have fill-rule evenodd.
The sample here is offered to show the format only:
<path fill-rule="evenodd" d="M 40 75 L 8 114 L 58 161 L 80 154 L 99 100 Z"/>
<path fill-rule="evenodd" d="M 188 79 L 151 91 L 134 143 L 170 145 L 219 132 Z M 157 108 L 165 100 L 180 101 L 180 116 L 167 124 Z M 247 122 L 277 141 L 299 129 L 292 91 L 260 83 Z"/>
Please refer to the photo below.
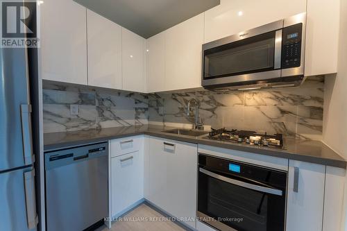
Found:
<path fill-rule="evenodd" d="M 274 157 L 282 157 L 291 160 L 300 160 L 304 162 L 312 162 L 315 164 L 324 164 L 346 169 L 346 160 L 319 141 L 285 139 L 285 148 L 276 149 L 162 132 L 163 130 L 170 129 L 172 129 L 172 127 L 150 125 L 46 133 L 44 134 L 44 151 L 144 134 L 167 139 L 175 139 L 182 142 L 205 144 L 220 148 L 228 148 L 262 155 L 271 155 Z"/>

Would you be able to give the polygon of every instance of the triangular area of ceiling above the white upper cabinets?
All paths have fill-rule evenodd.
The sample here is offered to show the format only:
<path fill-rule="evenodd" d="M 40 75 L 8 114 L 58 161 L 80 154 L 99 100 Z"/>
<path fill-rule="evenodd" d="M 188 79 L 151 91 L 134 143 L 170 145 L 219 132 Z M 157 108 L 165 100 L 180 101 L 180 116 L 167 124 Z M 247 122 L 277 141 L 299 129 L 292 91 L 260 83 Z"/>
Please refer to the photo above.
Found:
<path fill-rule="evenodd" d="M 74 0 L 148 38 L 219 5 L 220 0 Z"/>

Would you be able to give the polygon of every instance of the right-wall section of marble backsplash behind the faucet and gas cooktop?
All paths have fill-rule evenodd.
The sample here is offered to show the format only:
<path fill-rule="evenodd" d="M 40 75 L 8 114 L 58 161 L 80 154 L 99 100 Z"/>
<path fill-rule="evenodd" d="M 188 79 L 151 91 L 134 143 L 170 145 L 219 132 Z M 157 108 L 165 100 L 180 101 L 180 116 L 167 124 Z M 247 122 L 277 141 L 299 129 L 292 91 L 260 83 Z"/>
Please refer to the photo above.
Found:
<path fill-rule="evenodd" d="M 187 102 L 200 102 L 199 115 L 212 128 L 282 133 L 298 139 L 321 139 L 324 76 L 307 78 L 300 87 L 254 92 L 207 90 L 149 95 L 149 123 L 192 123 Z M 193 113 L 194 114 L 194 113 Z"/>

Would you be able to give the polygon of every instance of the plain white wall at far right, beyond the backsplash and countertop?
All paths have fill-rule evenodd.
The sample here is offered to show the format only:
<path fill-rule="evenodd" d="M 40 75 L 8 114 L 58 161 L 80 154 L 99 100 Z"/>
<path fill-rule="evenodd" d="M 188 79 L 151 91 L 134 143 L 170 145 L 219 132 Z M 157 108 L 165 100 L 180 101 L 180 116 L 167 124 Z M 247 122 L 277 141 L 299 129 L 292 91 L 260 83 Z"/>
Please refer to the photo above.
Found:
<path fill-rule="evenodd" d="M 339 61 L 337 75 L 325 78 L 323 142 L 347 160 L 347 1 L 341 0 Z M 328 46 L 329 44 L 324 44 Z M 346 181 L 347 182 L 347 178 Z M 345 183 L 344 218 L 347 230 L 347 188 Z"/>

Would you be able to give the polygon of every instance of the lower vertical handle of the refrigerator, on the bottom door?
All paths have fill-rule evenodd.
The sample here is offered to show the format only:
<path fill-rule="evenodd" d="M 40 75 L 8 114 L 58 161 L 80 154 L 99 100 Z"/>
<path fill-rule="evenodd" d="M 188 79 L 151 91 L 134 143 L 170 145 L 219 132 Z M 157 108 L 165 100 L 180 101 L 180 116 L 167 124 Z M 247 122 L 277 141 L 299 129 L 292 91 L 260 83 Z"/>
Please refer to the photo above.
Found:
<path fill-rule="evenodd" d="M 32 230 L 37 226 L 39 221 L 36 213 L 35 169 L 24 172 L 24 190 L 26 200 L 26 221 L 28 222 L 28 230 Z"/>

